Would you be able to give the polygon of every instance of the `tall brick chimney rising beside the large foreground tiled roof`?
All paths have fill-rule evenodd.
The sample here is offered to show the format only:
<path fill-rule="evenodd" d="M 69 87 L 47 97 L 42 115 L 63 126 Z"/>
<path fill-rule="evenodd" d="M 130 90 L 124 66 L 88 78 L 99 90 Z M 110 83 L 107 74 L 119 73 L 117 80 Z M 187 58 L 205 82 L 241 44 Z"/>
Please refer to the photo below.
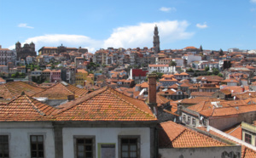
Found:
<path fill-rule="evenodd" d="M 148 105 L 157 116 L 156 104 L 156 74 L 148 74 Z"/>

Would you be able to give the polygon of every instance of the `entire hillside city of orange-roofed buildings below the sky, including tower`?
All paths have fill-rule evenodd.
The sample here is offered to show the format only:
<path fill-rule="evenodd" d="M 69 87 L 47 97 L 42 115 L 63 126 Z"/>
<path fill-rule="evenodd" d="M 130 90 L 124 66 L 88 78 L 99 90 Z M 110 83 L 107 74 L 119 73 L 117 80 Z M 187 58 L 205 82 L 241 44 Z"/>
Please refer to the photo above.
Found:
<path fill-rule="evenodd" d="M 158 34 L 95 54 L 0 47 L 0 157 L 256 157 L 255 52 L 161 50 Z"/>

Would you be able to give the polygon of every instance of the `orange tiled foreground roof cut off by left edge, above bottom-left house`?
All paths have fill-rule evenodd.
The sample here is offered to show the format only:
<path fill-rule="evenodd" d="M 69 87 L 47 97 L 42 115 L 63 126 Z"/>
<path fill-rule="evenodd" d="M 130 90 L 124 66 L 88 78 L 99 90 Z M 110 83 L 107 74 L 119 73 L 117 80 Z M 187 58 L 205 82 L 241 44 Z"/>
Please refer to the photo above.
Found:
<path fill-rule="evenodd" d="M 55 108 L 26 94 L 0 106 L 0 121 L 45 121 Z"/>

